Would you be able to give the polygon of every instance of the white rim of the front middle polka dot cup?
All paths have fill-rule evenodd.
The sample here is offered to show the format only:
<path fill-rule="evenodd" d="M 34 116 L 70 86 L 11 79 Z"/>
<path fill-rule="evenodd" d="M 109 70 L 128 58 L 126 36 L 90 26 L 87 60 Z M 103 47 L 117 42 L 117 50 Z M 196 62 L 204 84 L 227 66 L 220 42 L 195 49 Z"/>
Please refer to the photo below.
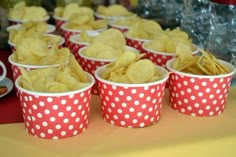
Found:
<path fill-rule="evenodd" d="M 160 80 L 157 80 L 157 81 L 154 81 L 154 82 L 148 82 L 148 83 L 133 83 L 133 84 L 131 84 L 131 83 L 112 82 L 112 81 L 105 80 L 105 79 L 100 77 L 100 73 L 102 71 L 104 71 L 107 66 L 108 65 L 105 64 L 105 65 L 97 68 L 95 70 L 94 76 L 95 76 L 95 78 L 97 80 L 99 80 L 101 82 L 104 82 L 106 84 L 114 85 L 114 86 L 120 86 L 120 87 L 144 87 L 144 86 L 152 86 L 152 85 L 156 85 L 156 84 L 161 84 L 161 83 L 167 81 L 167 79 L 169 78 L 169 72 L 165 68 L 163 68 L 163 67 L 161 67 L 159 65 L 155 65 L 158 70 L 161 70 L 161 73 L 162 73 L 163 77 Z"/>

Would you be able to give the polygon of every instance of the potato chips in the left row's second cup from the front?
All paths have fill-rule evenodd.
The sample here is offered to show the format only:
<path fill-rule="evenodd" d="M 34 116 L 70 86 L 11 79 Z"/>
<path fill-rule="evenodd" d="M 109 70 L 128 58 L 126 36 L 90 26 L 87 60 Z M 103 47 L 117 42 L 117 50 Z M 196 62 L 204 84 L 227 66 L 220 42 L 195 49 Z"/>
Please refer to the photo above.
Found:
<path fill-rule="evenodd" d="M 48 43 L 38 38 L 23 38 L 12 54 L 12 60 L 26 65 L 55 65 L 68 62 L 68 48 L 59 49 L 57 45 L 48 47 Z"/>

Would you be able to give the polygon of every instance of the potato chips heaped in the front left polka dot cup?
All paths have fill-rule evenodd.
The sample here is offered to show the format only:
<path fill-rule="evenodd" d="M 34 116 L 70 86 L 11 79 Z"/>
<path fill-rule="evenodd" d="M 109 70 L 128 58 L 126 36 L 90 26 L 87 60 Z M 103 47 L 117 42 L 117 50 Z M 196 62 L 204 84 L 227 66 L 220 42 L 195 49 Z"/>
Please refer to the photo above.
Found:
<path fill-rule="evenodd" d="M 32 71 L 22 68 L 21 73 L 21 87 L 36 92 L 68 92 L 84 88 L 90 83 L 86 73 L 72 56 L 68 64 L 60 67 Z"/>

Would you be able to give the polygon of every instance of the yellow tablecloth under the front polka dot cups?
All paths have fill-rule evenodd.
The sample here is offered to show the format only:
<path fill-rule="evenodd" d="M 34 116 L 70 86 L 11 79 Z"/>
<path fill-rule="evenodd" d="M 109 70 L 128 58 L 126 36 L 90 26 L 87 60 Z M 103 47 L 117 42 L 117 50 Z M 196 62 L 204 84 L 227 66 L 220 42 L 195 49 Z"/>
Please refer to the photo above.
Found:
<path fill-rule="evenodd" d="M 108 124 L 97 96 L 92 97 L 89 128 L 71 138 L 39 139 L 27 134 L 23 123 L 0 125 L 0 156 L 236 156 L 236 87 L 230 89 L 225 112 L 216 117 L 178 113 L 168 106 L 167 96 L 161 120 L 146 128 Z"/>

